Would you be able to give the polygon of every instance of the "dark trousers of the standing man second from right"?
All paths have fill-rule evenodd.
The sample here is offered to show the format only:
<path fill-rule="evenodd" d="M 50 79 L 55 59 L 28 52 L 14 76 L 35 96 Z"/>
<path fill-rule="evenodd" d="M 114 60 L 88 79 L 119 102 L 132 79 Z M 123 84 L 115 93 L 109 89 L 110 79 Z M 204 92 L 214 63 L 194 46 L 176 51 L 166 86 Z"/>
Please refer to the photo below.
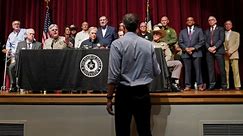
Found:
<path fill-rule="evenodd" d="M 215 80 L 215 60 L 218 63 L 220 75 L 221 75 L 221 87 L 226 88 L 226 72 L 225 72 L 225 62 L 224 62 L 224 55 L 223 54 L 212 54 L 207 52 L 206 53 L 206 60 L 208 64 L 208 74 L 209 74 L 209 87 L 214 87 L 216 84 Z"/>

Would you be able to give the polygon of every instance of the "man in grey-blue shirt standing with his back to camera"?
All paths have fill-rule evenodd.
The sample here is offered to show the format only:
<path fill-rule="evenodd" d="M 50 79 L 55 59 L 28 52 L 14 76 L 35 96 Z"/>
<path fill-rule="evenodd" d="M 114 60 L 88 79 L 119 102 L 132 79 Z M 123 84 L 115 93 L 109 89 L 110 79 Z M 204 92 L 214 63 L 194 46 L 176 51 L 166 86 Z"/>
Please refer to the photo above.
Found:
<path fill-rule="evenodd" d="M 149 84 L 160 74 L 153 44 L 136 34 L 139 19 L 123 17 L 124 37 L 111 44 L 108 68 L 107 111 L 115 115 L 116 136 L 129 136 L 132 115 L 139 136 L 152 136 Z M 115 113 L 112 109 L 115 95 Z"/>

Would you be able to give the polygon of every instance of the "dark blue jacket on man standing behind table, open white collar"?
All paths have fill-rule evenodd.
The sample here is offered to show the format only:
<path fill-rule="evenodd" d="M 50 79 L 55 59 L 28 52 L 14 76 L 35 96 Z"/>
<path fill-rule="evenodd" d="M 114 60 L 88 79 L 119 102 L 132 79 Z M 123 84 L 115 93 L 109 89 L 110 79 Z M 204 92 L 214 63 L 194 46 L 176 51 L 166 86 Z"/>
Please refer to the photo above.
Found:
<path fill-rule="evenodd" d="M 107 30 L 105 36 L 102 35 L 102 28 L 98 28 L 96 33 L 98 40 L 100 41 L 101 45 L 104 47 L 110 47 L 111 42 L 117 39 L 117 33 L 114 27 L 107 26 Z"/>

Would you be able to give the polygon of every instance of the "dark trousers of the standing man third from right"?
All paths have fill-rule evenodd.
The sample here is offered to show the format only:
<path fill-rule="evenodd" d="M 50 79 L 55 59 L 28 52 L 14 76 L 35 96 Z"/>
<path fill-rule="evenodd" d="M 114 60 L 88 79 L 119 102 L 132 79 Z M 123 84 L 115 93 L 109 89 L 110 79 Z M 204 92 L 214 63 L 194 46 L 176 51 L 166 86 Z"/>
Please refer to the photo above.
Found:
<path fill-rule="evenodd" d="M 192 64 L 194 66 L 194 71 L 196 75 L 196 82 L 197 85 L 202 85 L 202 70 L 201 70 L 201 58 L 183 58 L 184 66 L 185 66 L 185 86 L 186 87 L 192 87 L 191 85 L 191 72 L 192 72 Z"/>

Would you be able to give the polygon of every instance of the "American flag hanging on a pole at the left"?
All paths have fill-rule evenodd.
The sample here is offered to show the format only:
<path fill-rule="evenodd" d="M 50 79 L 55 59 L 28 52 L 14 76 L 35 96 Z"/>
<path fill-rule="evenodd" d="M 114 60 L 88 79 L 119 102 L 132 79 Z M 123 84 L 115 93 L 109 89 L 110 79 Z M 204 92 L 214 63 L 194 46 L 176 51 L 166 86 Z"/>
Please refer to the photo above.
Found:
<path fill-rule="evenodd" d="M 42 45 L 43 47 L 45 46 L 45 40 L 50 37 L 48 33 L 48 27 L 51 25 L 51 18 L 50 18 L 50 13 L 49 13 L 49 7 L 46 8 L 46 17 L 45 17 L 45 22 L 44 22 L 44 29 L 43 29 L 43 34 L 42 34 Z"/>

